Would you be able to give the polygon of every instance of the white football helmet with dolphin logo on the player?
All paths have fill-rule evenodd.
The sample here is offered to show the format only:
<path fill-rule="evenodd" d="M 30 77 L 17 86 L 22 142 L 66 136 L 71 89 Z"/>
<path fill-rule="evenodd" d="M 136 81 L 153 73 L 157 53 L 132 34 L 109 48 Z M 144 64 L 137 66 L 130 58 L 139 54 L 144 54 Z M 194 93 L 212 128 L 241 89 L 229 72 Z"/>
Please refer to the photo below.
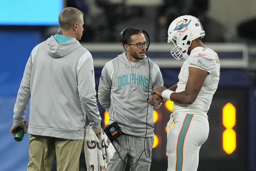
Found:
<path fill-rule="evenodd" d="M 168 41 L 175 47 L 170 51 L 175 59 L 187 59 L 191 41 L 205 35 L 201 22 L 194 16 L 180 16 L 168 28 Z"/>

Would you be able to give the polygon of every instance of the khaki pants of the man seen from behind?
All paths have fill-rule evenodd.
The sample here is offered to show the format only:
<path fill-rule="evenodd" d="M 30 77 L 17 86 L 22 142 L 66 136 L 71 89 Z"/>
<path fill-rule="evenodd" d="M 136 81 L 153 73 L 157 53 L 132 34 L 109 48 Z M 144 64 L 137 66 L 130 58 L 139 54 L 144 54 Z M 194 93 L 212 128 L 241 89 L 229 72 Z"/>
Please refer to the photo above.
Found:
<path fill-rule="evenodd" d="M 79 171 L 83 140 L 29 135 L 28 171 L 51 171 L 55 156 L 57 171 Z"/>

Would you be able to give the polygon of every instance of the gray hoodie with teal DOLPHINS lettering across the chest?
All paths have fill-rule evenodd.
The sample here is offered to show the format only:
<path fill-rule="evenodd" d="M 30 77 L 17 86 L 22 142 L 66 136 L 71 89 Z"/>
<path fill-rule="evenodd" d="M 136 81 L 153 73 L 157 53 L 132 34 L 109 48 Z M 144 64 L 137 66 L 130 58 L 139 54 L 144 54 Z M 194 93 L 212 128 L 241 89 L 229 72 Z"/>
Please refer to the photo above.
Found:
<path fill-rule="evenodd" d="M 130 62 L 123 53 L 107 62 L 102 69 L 98 97 L 109 111 L 109 123 L 116 121 L 127 135 L 145 137 L 147 128 L 147 137 L 154 136 L 154 108 L 147 104 L 154 86 L 163 86 L 163 78 L 159 67 L 147 56 Z"/>

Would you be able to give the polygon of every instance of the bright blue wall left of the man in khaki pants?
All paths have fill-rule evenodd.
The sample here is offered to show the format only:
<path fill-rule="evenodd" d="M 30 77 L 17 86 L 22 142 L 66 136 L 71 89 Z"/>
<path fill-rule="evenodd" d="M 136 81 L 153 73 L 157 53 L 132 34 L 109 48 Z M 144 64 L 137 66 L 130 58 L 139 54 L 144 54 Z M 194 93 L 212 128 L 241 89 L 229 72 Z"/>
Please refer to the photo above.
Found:
<path fill-rule="evenodd" d="M 28 135 L 24 135 L 24 139 L 17 142 L 10 134 L 10 128 L 23 71 L 31 50 L 41 41 L 41 33 L 1 30 L 0 38 L 2 40 L 0 41 L 0 115 L 2 119 L 0 170 L 24 171 L 28 164 Z M 26 114 L 25 119 L 28 117 L 29 115 Z"/>

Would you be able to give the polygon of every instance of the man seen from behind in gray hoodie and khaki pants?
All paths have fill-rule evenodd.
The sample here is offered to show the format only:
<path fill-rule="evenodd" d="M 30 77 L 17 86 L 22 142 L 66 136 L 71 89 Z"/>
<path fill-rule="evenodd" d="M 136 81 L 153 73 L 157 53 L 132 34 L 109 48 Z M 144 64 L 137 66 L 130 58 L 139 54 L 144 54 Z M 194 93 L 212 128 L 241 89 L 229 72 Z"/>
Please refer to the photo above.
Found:
<path fill-rule="evenodd" d="M 33 48 L 14 106 L 15 135 L 29 111 L 28 171 L 51 171 L 56 155 L 58 171 L 78 171 L 88 116 L 100 133 L 92 55 L 78 40 L 83 35 L 83 13 L 67 7 L 59 15 L 62 34 Z"/>

